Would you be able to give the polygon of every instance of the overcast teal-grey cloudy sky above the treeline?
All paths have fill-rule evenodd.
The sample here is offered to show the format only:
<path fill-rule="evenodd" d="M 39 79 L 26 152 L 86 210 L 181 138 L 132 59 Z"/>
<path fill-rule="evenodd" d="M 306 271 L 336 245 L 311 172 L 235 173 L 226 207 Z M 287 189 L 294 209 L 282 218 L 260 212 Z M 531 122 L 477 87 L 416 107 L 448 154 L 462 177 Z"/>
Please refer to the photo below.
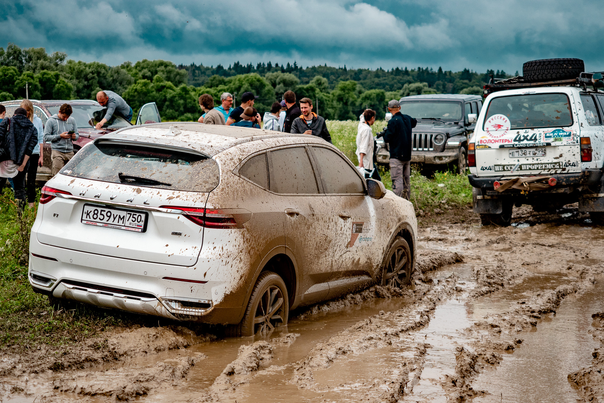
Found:
<path fill-rule="evenodd" d="M 296 60 L 522 74 L 527 60 L 579 57 L 600 71 L 603 17 L 596 0 L 0 0 L 0 46 L 109 65 Z"/>

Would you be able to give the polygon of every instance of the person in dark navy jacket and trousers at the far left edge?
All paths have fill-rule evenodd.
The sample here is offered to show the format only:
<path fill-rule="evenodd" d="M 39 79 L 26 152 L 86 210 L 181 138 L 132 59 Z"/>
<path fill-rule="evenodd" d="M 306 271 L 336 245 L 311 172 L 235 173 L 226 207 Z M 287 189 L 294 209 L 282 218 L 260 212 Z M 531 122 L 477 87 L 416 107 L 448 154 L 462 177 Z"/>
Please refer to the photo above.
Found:
<path fill-rule="evenodd" d="M 25 207 L 25 174 L 37 138 L 37 129 L 24 108 L 17 108 L 11 118 L 0 122 L 0 193 L 6 179 L 13 178 L 14 199 L 21 210 Z"/>

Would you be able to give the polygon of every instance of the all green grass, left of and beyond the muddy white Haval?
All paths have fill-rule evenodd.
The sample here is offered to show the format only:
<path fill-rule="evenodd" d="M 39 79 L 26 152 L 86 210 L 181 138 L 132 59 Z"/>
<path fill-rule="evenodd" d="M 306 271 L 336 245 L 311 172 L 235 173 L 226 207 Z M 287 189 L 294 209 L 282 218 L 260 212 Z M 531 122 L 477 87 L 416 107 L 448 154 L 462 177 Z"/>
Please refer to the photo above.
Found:
<path fill-rule="evenodd" d="M 327 121 L 333 144 L 354 164 L 358 163 L 357 125 L 356 121 Z M 374 124 L 374 133 L 384 126 L 384 121 Z M 390 173 L 382 170 L 381 175 L 391 189 Z M 418 213 L 463 207 L 471 202 L 472 190 L 464 175 L 439 172 L 428 179 L 414 170 L 411 187 L 411 201 Z M 47 297 L 31 291 L 27 280 L 28 240 L 36 209 L 27 209 L 19 216 L 10 189 L 0 197 L 0 208 L 0 347 L 30 349 L 44 343 L 68 348 L 71 343 L 116 326 L 158 323 L 154 317 L 80 304 L 53 309 Z"/>

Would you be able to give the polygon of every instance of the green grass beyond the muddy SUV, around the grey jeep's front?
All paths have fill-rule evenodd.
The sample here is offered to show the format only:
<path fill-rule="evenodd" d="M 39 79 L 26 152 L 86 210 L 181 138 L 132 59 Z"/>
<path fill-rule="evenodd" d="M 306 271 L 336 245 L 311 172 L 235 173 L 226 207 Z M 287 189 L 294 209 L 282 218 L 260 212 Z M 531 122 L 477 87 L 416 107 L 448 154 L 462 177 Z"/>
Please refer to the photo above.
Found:
<path fill-rule="evenodd" d="M 359 122 L 353 120 L 327 121 L 327 129 L 332 136 L 333 145 L 338 147 L 353 164 L 358 164 L 356 158 L 356 131 Z M 371 126 L 373 135 L 382 131 L 386 121 L 376 121 Z M 392 190 L 392 181 L 387 167 L 379 167 L 382 182 L 386 189 Z M 416 211 L 435 209 L 446 210 L 450 207 L 464 207 L 472 202 L 472 187 L 466 175 L 455 175 L 452 172 L 435 172 L 434 177 L 426 178 L 414 167 L 411 171 L 411 202 Z M 438 212 L 438 210 L 436 211 Z"/>

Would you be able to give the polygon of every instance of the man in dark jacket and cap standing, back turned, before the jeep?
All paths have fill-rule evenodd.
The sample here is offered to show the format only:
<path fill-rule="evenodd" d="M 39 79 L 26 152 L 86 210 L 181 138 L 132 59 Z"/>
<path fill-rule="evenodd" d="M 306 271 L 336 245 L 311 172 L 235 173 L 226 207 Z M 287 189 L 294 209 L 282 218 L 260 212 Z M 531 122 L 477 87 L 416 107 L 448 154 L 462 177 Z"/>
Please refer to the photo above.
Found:
<path fill-rule="evenodd" d="M 397 100 L 388 102 L 388 112 L 392 118 L 386 129 L 377 134 L 384 137 L 390 147 L 390 177 L 392 191 L 397 196 L 409 200 L 411 198 L 411 129 L 416 127 L 417 120 L 409 115 L 400 113 L 400 103 Z"/>

